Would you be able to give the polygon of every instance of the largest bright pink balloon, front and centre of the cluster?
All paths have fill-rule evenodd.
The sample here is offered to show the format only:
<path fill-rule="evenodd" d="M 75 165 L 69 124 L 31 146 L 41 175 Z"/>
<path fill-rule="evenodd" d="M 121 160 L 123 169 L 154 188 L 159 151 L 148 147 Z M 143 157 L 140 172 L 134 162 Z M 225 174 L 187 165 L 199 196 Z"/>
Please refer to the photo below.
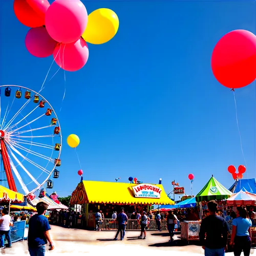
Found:
<path fill-rule="evenodd" d="M 45 20 L 47 31 L 54 40 L 70 44 L 86 30 L 88 14 L 80 0 L 55 0 Z"/>

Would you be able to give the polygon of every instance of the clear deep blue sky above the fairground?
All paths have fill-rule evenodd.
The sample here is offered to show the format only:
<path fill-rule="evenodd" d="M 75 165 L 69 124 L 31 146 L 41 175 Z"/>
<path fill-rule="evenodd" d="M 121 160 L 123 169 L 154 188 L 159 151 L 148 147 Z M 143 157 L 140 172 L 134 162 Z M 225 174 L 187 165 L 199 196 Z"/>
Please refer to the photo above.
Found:
<path fill-rule="evenodd" d="M 88 13 L 114 10 L 120 26 L 110 42 L 89 44 L 87 65 L 66 72 L 66 83 L 62 70 L 49 81 L 58 70 L 54 64 L 41 92 L 57 112 L 63 136 L 53 190 L 70 195 L 80 180 L 75 151 L 66 143 L 72 133 L 80 137 L 84 179 L 129 182 L 132 176 L 158 183 L 162 178 L 166 192 L 175 180 L 189 195 L 189 173 L 195 175 L 194 194 L 213 174 L 229 188 L 233 180 L 227 167 L 245 163 L 233 94 L 212 75 L 210 58 L 229 31 L 255 34 L 255 2 L 83 3 Z M 12 5 L 1 1 L 1 84 L 39 91 L 53 58 L 28 53 L 29 28 L 18 22 Z M 253 178 L 255 81 L 236 90 L 236 99 L 245 178 Z"/>

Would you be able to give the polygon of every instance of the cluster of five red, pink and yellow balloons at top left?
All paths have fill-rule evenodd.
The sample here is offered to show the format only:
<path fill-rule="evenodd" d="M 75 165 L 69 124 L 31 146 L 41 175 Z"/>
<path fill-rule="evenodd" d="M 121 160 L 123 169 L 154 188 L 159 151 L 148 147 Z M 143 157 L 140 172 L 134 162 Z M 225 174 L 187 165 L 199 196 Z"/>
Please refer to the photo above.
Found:
<path fill-rule="evenodd" d="M 104 44 L 117 33 L 115 12 L 101 8 L 90 15 L 80 0 L 14 0 L 14 13 L 30 27 L 25 38 L 27 50 L 35 57 L 53 54 L 63 70 L 77 71 L 89 58 L 87 42 Z"/>

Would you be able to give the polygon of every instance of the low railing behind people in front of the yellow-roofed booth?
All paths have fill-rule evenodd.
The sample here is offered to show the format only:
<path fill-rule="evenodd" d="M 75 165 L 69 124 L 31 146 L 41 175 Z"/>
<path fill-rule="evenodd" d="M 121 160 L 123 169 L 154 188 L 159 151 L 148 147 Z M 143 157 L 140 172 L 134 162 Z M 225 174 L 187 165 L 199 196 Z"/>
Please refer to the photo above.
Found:
<path fill-rule="evenodd" d="M 103 219 L 101 223 L 101 230 L 116 230 L 118 228 L 118 222 L 114 219 Z M 127 220 L 126 230 L 140 230 L 140 223 L 137 220 Z M 157 224 L 155 220 L 149 220 L 147 224 L 148 230 L 157 230 Z M 166 220 L 161 220 L 161 229 L 166 230 Z"/>

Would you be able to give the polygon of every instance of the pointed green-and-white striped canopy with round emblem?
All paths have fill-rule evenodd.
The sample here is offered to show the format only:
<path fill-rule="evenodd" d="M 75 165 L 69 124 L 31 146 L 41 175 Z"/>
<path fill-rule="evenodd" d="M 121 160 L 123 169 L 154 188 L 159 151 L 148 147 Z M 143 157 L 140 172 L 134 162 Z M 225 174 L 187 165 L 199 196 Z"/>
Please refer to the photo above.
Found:
<path fill-rule="evenodd" d="M 203 189 L 196 195 L 196 201 L 224 200 L 231 197 L 231 195 L 232 193 L 212 176 Z"/>

